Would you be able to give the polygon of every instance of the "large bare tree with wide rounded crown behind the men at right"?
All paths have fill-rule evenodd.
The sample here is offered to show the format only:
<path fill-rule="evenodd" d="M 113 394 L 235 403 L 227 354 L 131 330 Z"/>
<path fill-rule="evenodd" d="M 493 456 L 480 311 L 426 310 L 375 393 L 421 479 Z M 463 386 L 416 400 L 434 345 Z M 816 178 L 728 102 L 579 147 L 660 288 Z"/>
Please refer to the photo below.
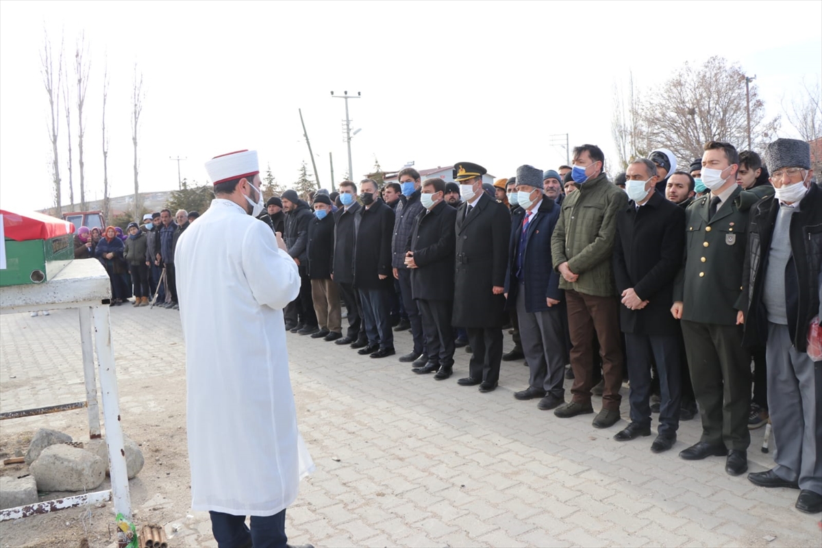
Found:
<path fill-rule="evenodd" d="M 728 64 L 717 56 L 702 67 L 686 63 L 640 103 L 649 141 L 654 147 L 672 150 L 681 159 L 701 156 L 709 140 L 743 148 L 747 144 L 745 76 L 738 64 Z M 779 126 L 779 117 L 765 120 L 764 115 L 759 90 L 750 85 L 751 139 L 760 145 Z"/>

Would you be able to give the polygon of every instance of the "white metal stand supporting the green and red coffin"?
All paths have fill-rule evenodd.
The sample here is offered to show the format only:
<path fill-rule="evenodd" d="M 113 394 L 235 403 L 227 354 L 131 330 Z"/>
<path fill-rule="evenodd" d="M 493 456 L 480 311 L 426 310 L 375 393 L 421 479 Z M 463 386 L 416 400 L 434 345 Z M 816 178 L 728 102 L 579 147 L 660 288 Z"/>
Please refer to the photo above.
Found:
<path fill-rule="evenodd" d="M 111 340 L 109 305 L 111 285 L 109 274 L 98 260 L 73 260 L 65 269 L 47 283 L 37 285 L 17 285 L 0 288 L 0 314 L 54 310 L 57 308 L 77 308 L 80 315 L 80 339 L 83 352 L 83 374 L 85 375 L 85 407 L 89 415 L 90 438 L 100 437 L 99 407 L 97 403 L 97 382 L 95 379 L 94 351 L 97 350 L 97 370 L 100 391 L 103 398 L 103 421 L 105 440 L 109 448 L 109 470 L 111 490 L 90 495 L 70 497 L 60 501 L 44 501 L 29 506 L 6 509 L 0 512 L 0 521 L 45 513 L 51 509 L 62 509 L 95 500 L 105 500 L 105 495 L 114 500 L 115 513 L 122 513 L 132 519 L 132 503 L 128 494 L 126 453 L 120 426 L 120 401 L 117 390 L 117 372 L 114 369 L 114 351 Z M 93 337 L 92 337 L 93 334 Z M 94 345 L 92 347 L 92 344 Z M 31 413 L 38 414 L 38 413 Z M 53 504 L 59 502 L 62 504 Z M 75 504 L 76 503 L 76 504 Z"/>

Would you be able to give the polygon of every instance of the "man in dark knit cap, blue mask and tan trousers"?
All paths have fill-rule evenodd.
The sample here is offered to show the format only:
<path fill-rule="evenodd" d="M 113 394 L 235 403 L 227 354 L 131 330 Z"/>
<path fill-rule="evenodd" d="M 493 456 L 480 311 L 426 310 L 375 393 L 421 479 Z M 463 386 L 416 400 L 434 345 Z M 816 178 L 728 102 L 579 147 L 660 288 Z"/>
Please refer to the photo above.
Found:
<path fill-rule="evenodd" d="M 311 338 L 335 341 L 341 338 L 339 290 L 331 279 L 331 257 L 334 253 L 334 216 L 331 199 L 326 194 L 314 197 L 314 219 L 308 223 L 307 272 L 320 330 Z"/>

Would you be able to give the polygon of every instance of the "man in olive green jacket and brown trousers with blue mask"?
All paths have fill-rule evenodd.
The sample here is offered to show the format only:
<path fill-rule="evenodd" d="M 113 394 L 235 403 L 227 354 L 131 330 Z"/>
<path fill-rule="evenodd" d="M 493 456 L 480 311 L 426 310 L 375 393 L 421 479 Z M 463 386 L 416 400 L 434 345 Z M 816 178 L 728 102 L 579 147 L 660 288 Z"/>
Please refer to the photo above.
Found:
<path fill-rule="evenodd" d="M 551 238 L 553 267 L 566 290 L 568 329 L 574 370 L 571 401 L 554 410 L 556 417 L 593 413 L 593 337 L 603 358 L 603 408 L 593 426 L 607 428 L 620 419 L 622 348 L 619 301 L 614 284 L 612 255 L 617 237 L 617 212 L 628 205 L 625 191 L 608 181 L 605 156 L 596 145 L 574 149 L 571 177 L 580 186 L 562 202 Z"/>

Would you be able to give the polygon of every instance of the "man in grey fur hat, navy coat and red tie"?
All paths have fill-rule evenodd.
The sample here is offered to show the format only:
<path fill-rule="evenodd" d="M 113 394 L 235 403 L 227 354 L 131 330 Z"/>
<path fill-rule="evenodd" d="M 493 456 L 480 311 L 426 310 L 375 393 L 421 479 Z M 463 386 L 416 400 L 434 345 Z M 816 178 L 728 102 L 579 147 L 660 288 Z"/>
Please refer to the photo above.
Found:
<path fill-rule="evenodd" d="M 551 237 L 560 206 L 544 195 L 539 169 L 520 166 L 516 182 L 520 208 L 511 214 L 506 298 L 520 320 L 522 348 L 531 374 L 529 387 L 514 397 L 541 398 L 537 407 L 547 410 L 565 403 L 565 297 L 559 274 L 551 268 Z"/>

